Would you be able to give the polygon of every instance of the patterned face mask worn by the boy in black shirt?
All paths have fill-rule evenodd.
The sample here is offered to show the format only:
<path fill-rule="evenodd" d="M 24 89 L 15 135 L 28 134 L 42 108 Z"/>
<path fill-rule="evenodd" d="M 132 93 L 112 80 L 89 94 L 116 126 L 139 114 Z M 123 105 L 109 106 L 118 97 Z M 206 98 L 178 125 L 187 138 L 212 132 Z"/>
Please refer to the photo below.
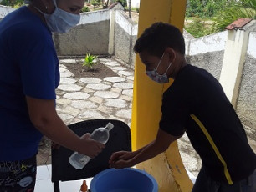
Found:
<path fill-rule="evenodd" d="M 163 58 L 165 53 L 162 54 L 161 59 Z M 169 78 L 167 77 L 167 71 L 168 69 L 171 67 L 172 62 L 169 64 L 168 68 L 166 69 L 166 73 L 164 74 L 159 74 L 157 73 L 157 68 L 161 63 L 161 59 L 159 61 L 159 63 L 157 64 L 157 67 L 154 68 L 154 70 L 152 71 L 146 71 L 146 74 L 149 78 L 151 78 L 151 80 L 155 81 L 156 83 L 169 83 Z"/>

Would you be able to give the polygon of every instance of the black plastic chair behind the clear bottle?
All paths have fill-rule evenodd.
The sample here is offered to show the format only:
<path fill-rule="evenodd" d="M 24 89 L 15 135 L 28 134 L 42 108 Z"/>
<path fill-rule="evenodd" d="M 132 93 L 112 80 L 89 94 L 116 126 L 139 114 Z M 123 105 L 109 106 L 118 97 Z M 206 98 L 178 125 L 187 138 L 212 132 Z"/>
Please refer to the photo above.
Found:
<path fill-rule="evenodd" d="M 69 128 L 79 136 L 85 133 L 92 133 L 99 127 L 105 127 L 107 123 L 114 124 L 110 130 L 110 139 L 105 144 L 105 149 L 95 158 L 91 159 L 83 169 L 74 169 L 69 164 L 69 156 L 74 151 L 60 147 L 52 149 L 52 182 L 54 192 L 59 192 L 59 181 L 79 180 L 94 177 L 100 171 L 109 169 L 109 159 L 113 152 L 125 150 L 131 151 L 131 130 L 127 124 L 120 120 L 113 119 L 92 119 L 76 124 L 70 124 Z M 61 133 L 60 133 L 61 134 Z"/>

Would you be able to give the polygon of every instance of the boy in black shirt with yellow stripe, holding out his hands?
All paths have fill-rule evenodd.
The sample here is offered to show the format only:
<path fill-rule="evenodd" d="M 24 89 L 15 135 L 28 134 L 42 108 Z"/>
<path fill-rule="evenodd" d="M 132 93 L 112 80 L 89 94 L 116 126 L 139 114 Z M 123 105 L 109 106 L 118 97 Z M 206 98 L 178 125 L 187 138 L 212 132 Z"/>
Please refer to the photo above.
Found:
<path fill-rule="evenodd" d="M 112 154 L 110 166 L 120 169 L 151 159 L 186 131 L 202 159 L 192 192 L 256 192 L 256 155 L 243 125 L 220 83 L 206 70 L 187 64 L 179 29 L 155 23 L 134 50 L 149 78 L 174 82 L 163 94 L 156 139 L 137 151 Z"/>

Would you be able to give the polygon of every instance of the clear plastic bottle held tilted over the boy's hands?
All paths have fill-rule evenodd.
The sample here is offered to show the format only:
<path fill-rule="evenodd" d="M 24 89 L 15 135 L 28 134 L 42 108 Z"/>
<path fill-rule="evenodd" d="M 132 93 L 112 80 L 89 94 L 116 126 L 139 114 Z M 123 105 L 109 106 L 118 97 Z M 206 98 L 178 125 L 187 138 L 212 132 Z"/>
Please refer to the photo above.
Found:
<path fill-rule="evenodd" d="M 110 130 L 114 127 L 113 124 L 108 123 L 105 128 L 98 128 L 95 129 L 94 132 L 90 135 L 91 139 L 94 139 L 96 141 L 99 141 L 102 144 L 107 143 L 110 137 Z M 90 157 L 84 154 L 79 154 L 78 152 L 74 152 L 69 157 L 69 163 L 75 168 L 75 169 L 83 169 L 85 164 L 87 164 L 90 161 Z"/>

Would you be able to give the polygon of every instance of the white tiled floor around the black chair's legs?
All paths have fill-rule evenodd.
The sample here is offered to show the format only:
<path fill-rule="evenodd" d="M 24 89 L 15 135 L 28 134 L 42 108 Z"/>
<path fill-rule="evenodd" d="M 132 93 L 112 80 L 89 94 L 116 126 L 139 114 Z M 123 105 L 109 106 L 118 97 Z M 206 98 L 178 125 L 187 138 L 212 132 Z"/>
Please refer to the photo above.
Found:
<path fill-rule="evenodd" d="M 51 181 L 51 169 L 51 164 L 38 166 L 35 192 L 54 192 L 54 184 Z M 91 179 L 85 179 L 88 189 Z M 81 184 L 83 184 L 83 180 L 60 182 L 59 188 L 61 192 L 79 191 Z"/>

